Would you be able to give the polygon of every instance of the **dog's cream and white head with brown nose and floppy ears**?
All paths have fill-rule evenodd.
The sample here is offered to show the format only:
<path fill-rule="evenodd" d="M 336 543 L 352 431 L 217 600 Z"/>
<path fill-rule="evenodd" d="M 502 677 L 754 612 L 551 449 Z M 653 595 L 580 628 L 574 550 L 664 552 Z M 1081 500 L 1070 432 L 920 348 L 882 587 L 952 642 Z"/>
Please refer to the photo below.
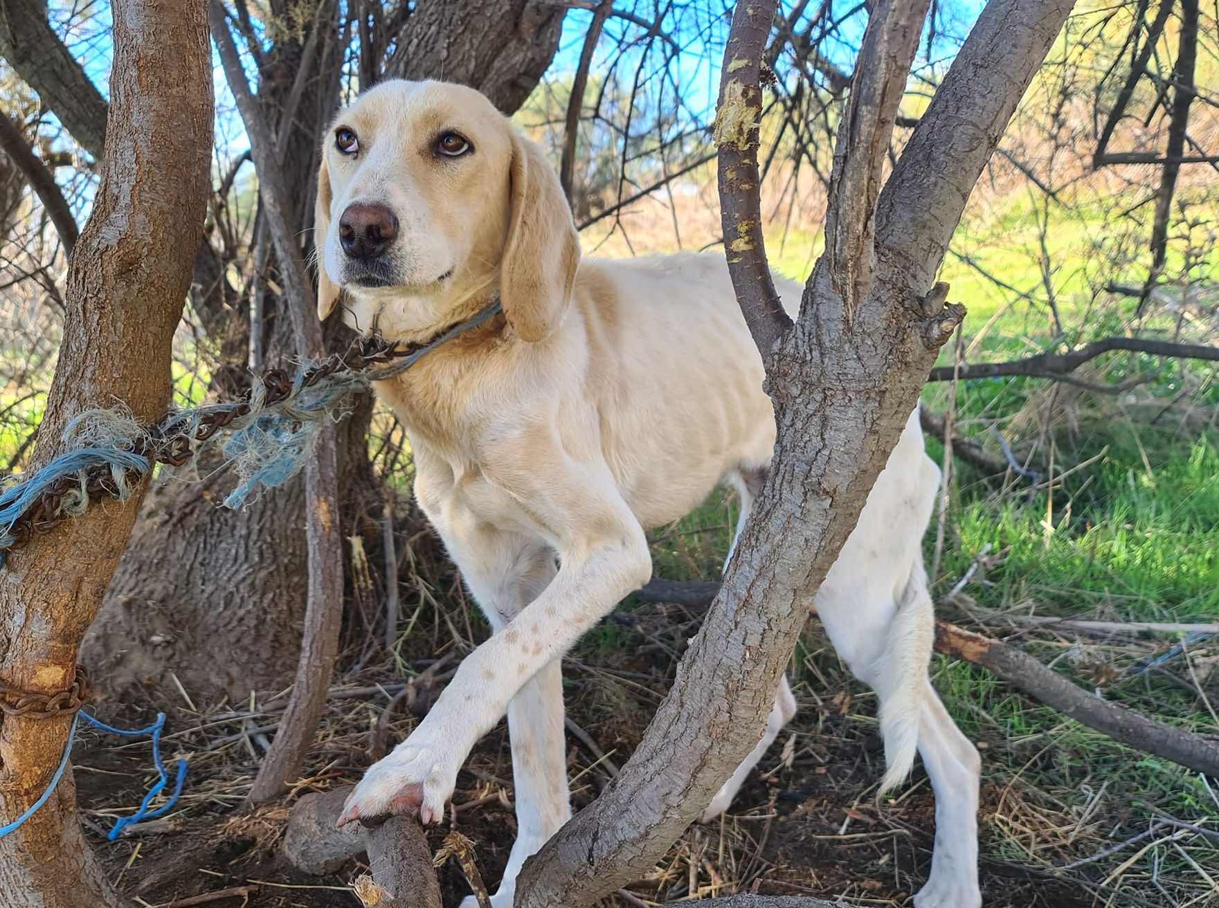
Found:
<path fill-rule="evenodd" d="M 423 336 L 499 289 L 524 340 L 562 321 L 580 247 L 558 178 L 474 89 L 384 82 L 322 146 L 313 243 L 318 316 Z M 464 308 L 463 308 L 464 307 Z"/>

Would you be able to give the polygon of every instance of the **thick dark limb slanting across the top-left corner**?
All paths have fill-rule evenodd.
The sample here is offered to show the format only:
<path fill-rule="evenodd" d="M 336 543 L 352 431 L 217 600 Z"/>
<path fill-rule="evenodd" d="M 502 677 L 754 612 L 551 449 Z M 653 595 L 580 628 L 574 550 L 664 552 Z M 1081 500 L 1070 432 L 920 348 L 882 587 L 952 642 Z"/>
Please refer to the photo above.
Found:
<path fill-rule="evenodd" d="M 0 0 L 0 57 L 90 155 L 106 144 L 106 101 L 46 20 L 46 0 Z"/>

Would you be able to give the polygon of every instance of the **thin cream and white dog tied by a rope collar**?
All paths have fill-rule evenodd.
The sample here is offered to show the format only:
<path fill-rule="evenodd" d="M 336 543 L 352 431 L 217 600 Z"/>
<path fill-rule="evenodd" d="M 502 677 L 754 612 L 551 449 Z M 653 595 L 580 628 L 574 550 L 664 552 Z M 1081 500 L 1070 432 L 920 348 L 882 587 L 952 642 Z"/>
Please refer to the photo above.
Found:
<path fill-rule="evenodd" d="M 340 111 L 315 230 L 323 319 L 345 291 L 357 330 L 424 344 L 502 306 L 377 388 L 410 438 L 419 506 L 494 634 L 368 769 L 340 823 L 439 820 L 471 748 L 507 713 L 518 835 L 492 903 L 510 908 L 525 858 L 570 815 L 562 656 L 651 576 L 645 529 L 725 479 L 744 525 L 775 441 L 762 361 L 723 255 L 583 258 L 545 155 L 471 88 L 389 80 Z M 795 312 L 801 288 L 777 285 Z M 915 748 L 930 775 L 935 851 L 915 904 L 976 908 L 978 753 L 928 676 L 920 544 L 939 481 L 915 412 L 811 605 L 879 696 L 884 785 Z M 703 820 L 795 709 L 784 680 Z"/>

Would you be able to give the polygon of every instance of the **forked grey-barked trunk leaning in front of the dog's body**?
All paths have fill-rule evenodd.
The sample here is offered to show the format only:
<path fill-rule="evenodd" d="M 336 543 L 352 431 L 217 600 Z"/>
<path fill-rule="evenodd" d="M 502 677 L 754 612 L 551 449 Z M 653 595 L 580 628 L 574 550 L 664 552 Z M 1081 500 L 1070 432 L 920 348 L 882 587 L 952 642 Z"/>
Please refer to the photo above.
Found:
<path fill-rule="evenodd" d="M 918 399 L 944 329 L 959 318 L 928 305 L 942 299 L 931 293 L 935 269 L 1072 2 L 986 5 L 873 217 L 853 200 L 879 178 L 895 80 L 906 78 L 925 7 L 872 6 L 851 90 L 863 87 L 861 99 L 875 99 L 876 110 L 853 106 L 858 117 L 839 134 L 845 156 L 835 163 L 825 243 L 839 254 L 818 262 L 800 319 L 764 356 L 778 444 L 723 589 L 627 767 L 525 863 L 518 908 L 589 904 L 645 873 L 757 741 L 808 603 Z"/>

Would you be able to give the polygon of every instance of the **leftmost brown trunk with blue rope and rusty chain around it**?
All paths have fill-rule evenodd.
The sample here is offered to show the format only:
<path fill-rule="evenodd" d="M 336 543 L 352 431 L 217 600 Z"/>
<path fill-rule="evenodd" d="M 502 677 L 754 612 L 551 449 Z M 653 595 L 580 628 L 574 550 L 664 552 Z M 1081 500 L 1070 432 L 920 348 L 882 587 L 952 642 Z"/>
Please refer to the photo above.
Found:
<path fill-rule="evenodd" d="M 45 463 L 67 423 L 126 402 L 151 420 L 169 394 L 169 342 L 202 233 L 212 132 L 201 0 L 113 4 L 112 119 L 94 210 L 67 278 L 63 344 L 34 452 Z M 11 555 L 0 574 L 0 676 L 29 691 L 68 685 L 84 630 L 118 563 L 138 500 L 89 509 Z M 69 715 L 4 717 L 0 818 L 24 810 L 60 762 Z M 7 908 L 98 908 L 115 896 L 84 842 L 71 774 L 0 839 Z"/>

